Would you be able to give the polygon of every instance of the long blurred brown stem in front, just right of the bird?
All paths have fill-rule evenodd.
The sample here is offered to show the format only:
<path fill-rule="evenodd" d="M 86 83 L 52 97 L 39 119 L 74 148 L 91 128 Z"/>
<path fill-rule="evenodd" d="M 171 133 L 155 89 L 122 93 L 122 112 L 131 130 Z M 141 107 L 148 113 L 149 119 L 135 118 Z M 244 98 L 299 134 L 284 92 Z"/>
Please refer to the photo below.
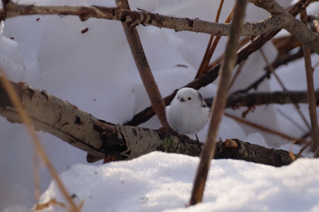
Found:
<path fill-rule="evenodd" d="M 237 0 L 234 10 L 234 19 L 230 28 L 230 37 L 226 45 L 225 61 L 220 74 L 217 91 L 213 104 L 211 106 L 211 122 L 209 132 L 204 145 L 202 158 L 200 160 L 196 178 L 193 186 L 190 205 L 195 205 L 202 201 L 205 182 L 210 166 L 210 161 L 214 156 L 216 148 L 216 135 L 219 128 L 219 123 L 226 106 L 229 84 L 232 77 L 232 70 L 237 61 L 236 50 L 238 48 L 239 33 L 241 32 L 242 22 L 245 16 L 247 0 Z M 216 104 L 218 102 L 218 104 Z"/>

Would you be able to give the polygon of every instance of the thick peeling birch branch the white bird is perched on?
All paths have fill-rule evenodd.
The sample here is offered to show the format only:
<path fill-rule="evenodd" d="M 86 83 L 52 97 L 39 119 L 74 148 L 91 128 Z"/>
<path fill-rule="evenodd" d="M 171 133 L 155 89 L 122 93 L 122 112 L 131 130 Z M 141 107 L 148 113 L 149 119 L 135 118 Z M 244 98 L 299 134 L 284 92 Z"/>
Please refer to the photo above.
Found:
<path fill-rule="evenodd" d="M 12 84 L 31 117 L 33 126 L 37 130 L 48 132 L 86 151 L 89 163 L 101 159 L 105 162 L 129 160 L 155 150 L 199 156 L 200 152 L 195 140 L 187 137 L 179 138 L 162 130 L 113 125 L 98 120 L 91 114 L 45 91 L 24 86 L 22 83 Z M 1 83 L 0 115 L 10 122 L 21 123 Z M 234 145 L 227 142 L 217 144 L 216 159 L 243 159 L 273 166 L 287 165 L 292 162 L 286 151 L 270 150 L 237 139 L 232 140 L 238 143 L 237 147 L 234 148 Z"/>

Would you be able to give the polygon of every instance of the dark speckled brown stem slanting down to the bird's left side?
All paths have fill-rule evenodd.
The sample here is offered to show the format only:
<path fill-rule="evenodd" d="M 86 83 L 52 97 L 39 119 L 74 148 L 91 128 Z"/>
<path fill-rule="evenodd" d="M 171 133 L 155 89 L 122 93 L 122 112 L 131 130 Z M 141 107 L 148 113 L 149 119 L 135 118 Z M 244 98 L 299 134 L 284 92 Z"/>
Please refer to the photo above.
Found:
<path fill-rule="evenodd" d="M 115 0 L 115 3 L 122 9 L 130 10 L 130 6 L 127 0 Z M 141 40 L 137 33 L 137 29 L 136 27 L 128 26 L 126 23 L 122 23 L 122 26 L 126 35 L 126 39 L 129 43 L 138 73 L 140 74 L 148 98 L 151 101 L 153 110 L 159 118 L 161 125 L 163 127 L 169 127 L 165 114 L 165 102 L 159 92 L 151 68 L 147 62 Z"/>

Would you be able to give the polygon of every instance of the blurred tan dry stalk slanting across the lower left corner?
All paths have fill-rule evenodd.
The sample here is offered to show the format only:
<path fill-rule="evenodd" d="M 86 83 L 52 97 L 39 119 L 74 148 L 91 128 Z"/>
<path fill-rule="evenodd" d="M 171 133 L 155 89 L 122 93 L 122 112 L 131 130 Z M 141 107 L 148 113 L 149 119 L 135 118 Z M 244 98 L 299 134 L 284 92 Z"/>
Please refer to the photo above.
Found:
<path fill-rule="evenodd" d="M 53 179 L 55 179 L 57 186 L 59 187 L 63 196 L 68 201 L 68 203 L 71 205 L 73 210 L 76 212 L 80 212 L 80 208 L 73 202 L 71 196 L 66 191 L 66 188 L 64 187 L 61 179 L 57 175 L 55 168 L 53 167 L 53 164 L 51 164 L 47 154 L 45 153 L 45 151 L 40 143 L 40 140 L 38 139 L 38 136 L 33 131 L 31 120 L 30 120 L 29 116 L 27 115 L 25 109 L 23 108 L 17 92 L 14 90 L 14 87 L 12 86 L 12 84 L 7 80 L 7 77 L 6 77 L 2 68 L 0 68 L 0 75 L 2 75 L 2 77 L 0 77 L 0 80 L 2 81 L 2 83 L 4 85 L 4 89 L 8 93 L 8 96 L 10 98 L 10 101 L 12 102 L 12 105 L 16 108 L 17 112 L 20 115 L 21 120 L 26 124 L 26 128 L 27 128 L 32 140 L 33 140 L 35 151 L 40 155 L 43 163 L 48 167 L 48 170 L 51 173 Z"/>

